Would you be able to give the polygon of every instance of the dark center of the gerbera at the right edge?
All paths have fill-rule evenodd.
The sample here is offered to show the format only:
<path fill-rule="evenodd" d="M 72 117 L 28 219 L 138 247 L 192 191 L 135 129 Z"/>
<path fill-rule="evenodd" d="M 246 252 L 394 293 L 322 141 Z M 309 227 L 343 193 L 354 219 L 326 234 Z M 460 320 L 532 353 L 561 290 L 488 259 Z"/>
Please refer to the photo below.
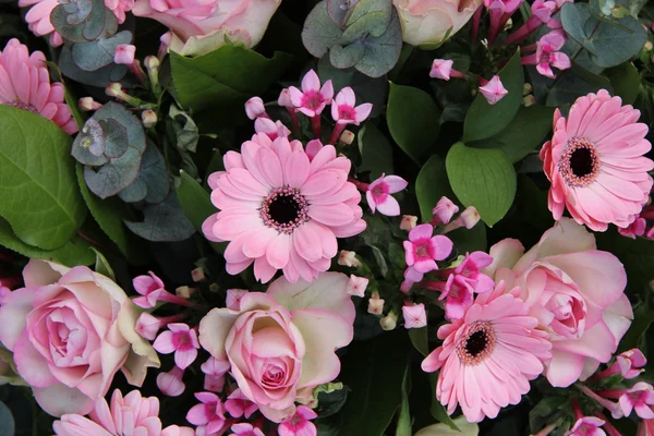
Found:
<path fill-rule="evenodd" d="M 573 137 L 564 148 L 558 166 L 569 186 L 586 186 L 600 172 L 600 156 L 590 141 Z"/>

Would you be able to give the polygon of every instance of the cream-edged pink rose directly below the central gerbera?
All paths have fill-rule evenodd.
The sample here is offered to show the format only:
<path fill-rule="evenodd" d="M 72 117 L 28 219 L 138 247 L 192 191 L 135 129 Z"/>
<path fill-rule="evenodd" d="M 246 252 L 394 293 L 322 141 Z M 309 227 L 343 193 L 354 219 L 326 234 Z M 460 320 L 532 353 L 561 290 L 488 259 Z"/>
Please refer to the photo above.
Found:
<path fill-rule="evenodd" d="M 249 292 L 239 311 L 214 308 L 199 323 L 199 343 L 220 361 L 241 392 L 267 419 L 293 415 L 295 401 L 340 372 L 335 350 L 352 340 L 354 304 L 348 277 L 324 272 L 315 281 L 279 278 L 266 293 Z"/>

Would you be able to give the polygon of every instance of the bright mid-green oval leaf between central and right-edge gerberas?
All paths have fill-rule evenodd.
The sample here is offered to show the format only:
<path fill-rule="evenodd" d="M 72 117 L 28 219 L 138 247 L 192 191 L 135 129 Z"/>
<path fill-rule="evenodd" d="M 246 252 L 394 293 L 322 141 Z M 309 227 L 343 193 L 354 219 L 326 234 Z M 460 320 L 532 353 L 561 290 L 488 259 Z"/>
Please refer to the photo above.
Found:
<path fill-rule="evenodd" d="M 464 206 L 474 206 L 493 227 L 511 207 L 516 196 L 516 171 L 499 149 L 470 148 L 457 143 L 446 159 L 452 191 Z"/>

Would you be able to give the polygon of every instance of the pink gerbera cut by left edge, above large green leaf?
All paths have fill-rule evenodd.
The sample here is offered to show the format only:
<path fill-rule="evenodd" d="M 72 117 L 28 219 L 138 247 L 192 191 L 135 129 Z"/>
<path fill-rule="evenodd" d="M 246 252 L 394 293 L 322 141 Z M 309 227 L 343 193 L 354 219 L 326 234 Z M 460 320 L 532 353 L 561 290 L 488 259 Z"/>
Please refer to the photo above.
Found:
<path fill-rule="evenodd" d="M 0 52 L 0 105 L 38 113 L 65 133 L 77 132 L 63 86 L 50 84 L 46 57 L 40 51 L 29 55 L 27 47 L 15 38 Z"/>

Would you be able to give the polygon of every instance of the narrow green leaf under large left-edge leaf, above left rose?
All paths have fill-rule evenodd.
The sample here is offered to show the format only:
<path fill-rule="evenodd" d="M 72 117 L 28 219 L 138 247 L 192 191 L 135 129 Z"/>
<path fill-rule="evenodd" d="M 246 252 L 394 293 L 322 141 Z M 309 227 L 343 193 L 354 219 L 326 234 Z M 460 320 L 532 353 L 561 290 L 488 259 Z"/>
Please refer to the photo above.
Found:
<path fill-rule="evenodd" d="M 0 218 L 0 245 L 26 257 L 52 261 L 70 267 L 92 265 L 95 262 L 95 254 L 89 243 L 78 235 L 57 250 L 41 250 L 21 241 L 11 230 L 9 222 L 2 218 Z"/>

